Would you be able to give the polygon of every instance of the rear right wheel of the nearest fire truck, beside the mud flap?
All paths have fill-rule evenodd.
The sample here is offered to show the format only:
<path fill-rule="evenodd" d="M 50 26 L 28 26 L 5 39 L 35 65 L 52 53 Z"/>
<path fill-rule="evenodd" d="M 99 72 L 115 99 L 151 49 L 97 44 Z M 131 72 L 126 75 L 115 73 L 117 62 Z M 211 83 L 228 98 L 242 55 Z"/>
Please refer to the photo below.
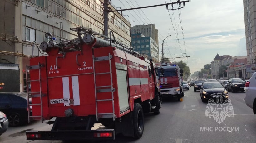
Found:
<path fill-rule="evenodd" d="M 134 137 L 140 138 L 144 131 L 144 114 L 142 107 L 139 103 L 134 104 L 132 119 L 134 127 Z"/>

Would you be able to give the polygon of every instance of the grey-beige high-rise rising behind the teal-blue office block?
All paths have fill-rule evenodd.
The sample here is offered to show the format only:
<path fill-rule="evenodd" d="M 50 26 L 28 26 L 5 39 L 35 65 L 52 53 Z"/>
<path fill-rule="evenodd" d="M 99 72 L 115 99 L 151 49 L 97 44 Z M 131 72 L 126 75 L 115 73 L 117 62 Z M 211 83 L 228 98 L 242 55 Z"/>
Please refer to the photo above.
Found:
<path fill-rule="evenodd" d="M 155 29 L 155 24 L 136 25 L 131 27 L 131 34 L 141 33 L 145 37 L 150 36 L 158 45 L 158 30 Z"/>

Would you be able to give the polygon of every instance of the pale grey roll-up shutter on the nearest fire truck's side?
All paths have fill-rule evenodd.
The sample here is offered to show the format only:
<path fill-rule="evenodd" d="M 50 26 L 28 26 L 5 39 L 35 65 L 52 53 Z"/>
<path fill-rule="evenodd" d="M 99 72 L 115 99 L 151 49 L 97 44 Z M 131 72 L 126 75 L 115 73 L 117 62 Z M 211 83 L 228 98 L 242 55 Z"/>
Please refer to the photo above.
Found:
<path fill-rule="evenodd" d="M 126 70 L 116 69 L 120 113 L 129 109 Z"/>

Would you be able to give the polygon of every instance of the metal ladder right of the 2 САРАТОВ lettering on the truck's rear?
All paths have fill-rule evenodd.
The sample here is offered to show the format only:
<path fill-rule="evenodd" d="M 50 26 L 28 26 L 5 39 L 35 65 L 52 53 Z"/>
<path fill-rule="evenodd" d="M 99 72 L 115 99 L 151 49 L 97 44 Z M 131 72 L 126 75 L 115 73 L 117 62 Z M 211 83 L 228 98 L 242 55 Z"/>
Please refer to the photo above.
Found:
<path fill-rule="evenodd" d="M 113 88 L 113 80 L 112 80 L 112 69 L 111 69 L 111 59 L 112 59 L 112 55 L 110 53 L 108 53 L 108 56 L 102 56 L 102 57 L 93 57 L 93 74 L 94 74 L 94 87 L 95 87 L 95 99 L 96 99 L 96 118 L 97 121 L 99 119 L 99 116 L 101 116 L 101 118 L 113 118 L 113 120 L 115 121 L 115 110 L 114 110 L 114 92 L 115 92 L 115 88 Z M 109 66 L 110 66 L 110 72 L 106 72 L 106 73 L 95 73 L 95 62 L 98 61 L 109 61 Z M 111 80 L 111 85 L 106 85 L 106 86 L 98 86 L 96 87 L 96 75 L 99 74 L 110 74 L 110 80 Z M 102 88 L 102 87 L 111 87 L 109 89 L 98 89 L 98 88 Z M 112 96 L 111 99 L 98 99 L 97 98 L 97 92 L 111 92 Z M 112 109 L 113 111 L 111 113 L 98 113 L 98 102 L 104 102 L 104 101 L 112 101 Z"/>

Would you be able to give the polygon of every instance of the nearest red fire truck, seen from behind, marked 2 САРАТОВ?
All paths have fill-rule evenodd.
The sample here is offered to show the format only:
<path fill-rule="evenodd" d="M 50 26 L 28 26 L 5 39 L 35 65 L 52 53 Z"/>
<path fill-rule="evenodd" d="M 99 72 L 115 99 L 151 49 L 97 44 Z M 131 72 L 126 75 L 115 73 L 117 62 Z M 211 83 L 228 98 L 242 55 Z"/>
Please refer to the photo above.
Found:
<path fill-rule="evenodd" d="M 31 58 L 32 104 L 29 119 L 56 117 L 51 131 L 27 131 L 27 140 L 140 138 L 144 114 L 161 109 L 157 68 L 138 52 L 85 27 L 71 29 L 73 40 L 49 42 L 40 48 L 48 56 Z M 102 39 L 105 38 L 105 39 Z M 108 38 L 108 40 L 106 40 Z M 94 123 L 108 129 L 91 130 Z"/>

